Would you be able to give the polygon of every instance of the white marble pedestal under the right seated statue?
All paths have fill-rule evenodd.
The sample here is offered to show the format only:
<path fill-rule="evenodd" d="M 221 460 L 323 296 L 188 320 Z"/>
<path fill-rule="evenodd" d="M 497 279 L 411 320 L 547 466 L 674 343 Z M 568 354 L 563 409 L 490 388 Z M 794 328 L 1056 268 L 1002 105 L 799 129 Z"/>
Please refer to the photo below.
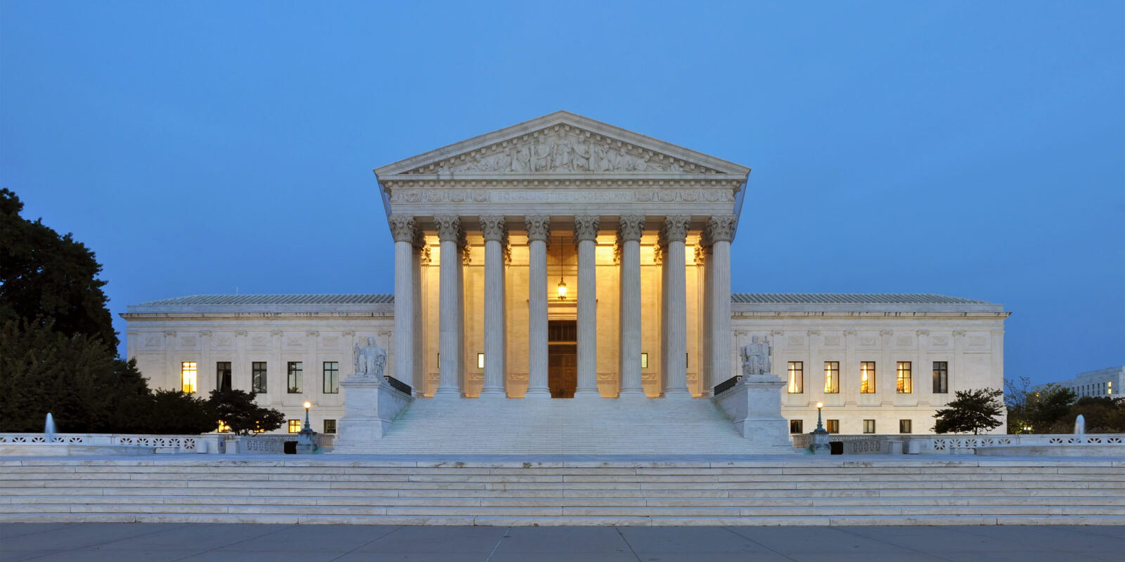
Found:
<path fill-rule="evenodd" d="M 789 423 L 781 417 L 784 386 L 784 381 L 772 374 L 748 374 L 712 398 L 746 439 L 747 453 L 793 454 Z"/>

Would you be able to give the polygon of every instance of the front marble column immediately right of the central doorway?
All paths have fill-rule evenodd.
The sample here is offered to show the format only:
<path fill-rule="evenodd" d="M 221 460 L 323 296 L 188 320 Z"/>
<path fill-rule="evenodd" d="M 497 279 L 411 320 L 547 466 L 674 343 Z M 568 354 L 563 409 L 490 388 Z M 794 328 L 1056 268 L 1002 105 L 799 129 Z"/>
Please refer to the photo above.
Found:
<path fill-rule="evenodd" d="M 575 398 L 598 397 L 597 391 L 597 227 L 598 217 L 574 217 L 578 246 L 578 387 Z"/>

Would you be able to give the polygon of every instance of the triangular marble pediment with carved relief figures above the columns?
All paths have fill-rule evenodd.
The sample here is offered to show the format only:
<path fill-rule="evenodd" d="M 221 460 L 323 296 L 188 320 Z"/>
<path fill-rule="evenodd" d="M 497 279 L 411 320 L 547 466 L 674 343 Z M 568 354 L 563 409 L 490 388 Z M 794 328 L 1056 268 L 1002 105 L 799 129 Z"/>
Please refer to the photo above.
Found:
<path fill-rule="evenodd" d="M 567 111 L 513 125 L 375 170 L 397 176 L 690 175 L 750 169 Z"/>

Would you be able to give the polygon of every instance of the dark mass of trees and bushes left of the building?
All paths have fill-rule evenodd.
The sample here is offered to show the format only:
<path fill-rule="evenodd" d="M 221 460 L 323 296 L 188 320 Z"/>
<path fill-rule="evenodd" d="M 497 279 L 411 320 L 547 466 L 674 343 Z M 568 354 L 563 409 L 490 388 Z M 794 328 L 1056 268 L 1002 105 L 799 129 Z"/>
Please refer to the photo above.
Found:
<path fill-rule="evenodd" d="M 117 356 L 101 265 L 68 234 L 19 216 L 0 189 L 0 432 L 198 434 L 218 426 L 207 400 L 148 389 Z"/>

